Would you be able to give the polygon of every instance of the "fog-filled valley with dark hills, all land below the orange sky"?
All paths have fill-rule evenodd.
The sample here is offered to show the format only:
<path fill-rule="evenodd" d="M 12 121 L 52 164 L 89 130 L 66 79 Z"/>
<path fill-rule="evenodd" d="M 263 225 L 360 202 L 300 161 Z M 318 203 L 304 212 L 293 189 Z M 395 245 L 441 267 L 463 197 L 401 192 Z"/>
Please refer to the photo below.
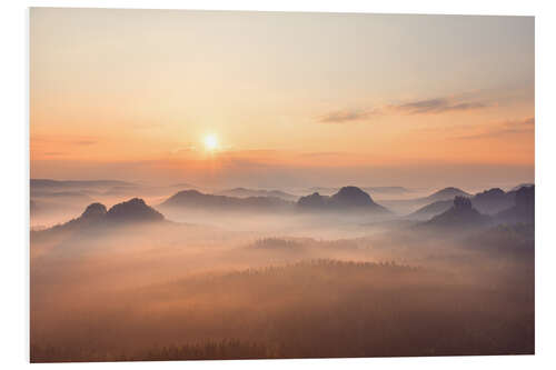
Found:
<path fill-rule="evenodd" d="M 534 352 L 533 184 L 30 199 L 36 362 Z"/>

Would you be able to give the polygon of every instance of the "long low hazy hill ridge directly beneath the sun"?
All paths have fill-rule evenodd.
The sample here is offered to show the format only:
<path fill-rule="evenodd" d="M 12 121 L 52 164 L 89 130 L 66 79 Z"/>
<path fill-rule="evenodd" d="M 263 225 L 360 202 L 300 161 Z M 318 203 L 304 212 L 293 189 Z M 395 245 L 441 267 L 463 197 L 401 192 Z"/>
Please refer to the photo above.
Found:
<path fill-rule="evenodd" d="M 227 196 L 206 194 L 197 190 L 183 190 L 163 201 L 161 208 L 187 208 L 207 210 L 268 210 L 285 209 L 294 203 L 274 197 L 235 198 Z"/>

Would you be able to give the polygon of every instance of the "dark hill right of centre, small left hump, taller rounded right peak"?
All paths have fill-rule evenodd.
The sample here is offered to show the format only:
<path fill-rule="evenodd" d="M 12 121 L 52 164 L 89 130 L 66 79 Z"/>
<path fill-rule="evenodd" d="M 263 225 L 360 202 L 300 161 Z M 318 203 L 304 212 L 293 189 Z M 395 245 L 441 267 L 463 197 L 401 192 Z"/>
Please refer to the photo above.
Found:
<path fill-rule="evenodd" d="M 310 196 L 299 198 L 297 206 L 302 209 L 326 210 L 365 210 L 381 213 L 389 211 L 373 201 L 370 196 L 357 187 L 344 187 L 331 197 L 320 196 L 315 192 Z"/>

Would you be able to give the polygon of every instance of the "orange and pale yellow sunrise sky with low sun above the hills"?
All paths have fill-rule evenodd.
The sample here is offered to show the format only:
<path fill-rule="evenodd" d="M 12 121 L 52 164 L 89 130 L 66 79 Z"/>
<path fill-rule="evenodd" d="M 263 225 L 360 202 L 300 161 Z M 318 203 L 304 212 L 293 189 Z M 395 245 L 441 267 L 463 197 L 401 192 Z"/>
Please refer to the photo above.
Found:
<path fill-rule="evenodd" d="M 32 178 L 534 181 L 533 17 L 32 8 Z"/>

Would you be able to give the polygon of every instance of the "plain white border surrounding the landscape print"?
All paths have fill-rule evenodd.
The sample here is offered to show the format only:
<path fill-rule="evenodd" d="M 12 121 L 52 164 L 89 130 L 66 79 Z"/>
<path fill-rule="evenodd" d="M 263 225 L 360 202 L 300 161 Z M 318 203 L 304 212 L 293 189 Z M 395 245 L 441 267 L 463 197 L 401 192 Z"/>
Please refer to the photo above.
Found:
<path fill-rule="evenodd" d="M 388 12 L 388 13 L 450 13 L 450 14 L 507 14 L 536 16 L 536 356 L 518 357 L 457 357 L 457 358 L 396 358 L 396 359 L 342 359 L 342 360 L 268 360 L 268 361 L 200 361 L 200 362 L 132 362 L 102 364 L 66 364 L 64 367 L 102 368 L 269 368 L 282 367 L 355 367 L 369 366 L 386 369 L 461 369 L 468 367 L 523 369 L 556 368 L 554 342 L 556 327 L 555 278 L 556 191 L 554 140 L 555 124 L 555 72 L 554 51 L 555 7 L 550 1 L 4 1 L 0 12 L 0 81 L 2 107 L 1 163 L 2 187 L 0 271 L 2 303 L 0 330 L 0 362 L 6 369 L 28 364 L 28 11 L 27 7 L 96 7 L 143 9 L 215 9 L 215 10 L 279 10 L 279 11 L 336 11 L 336 12 Z M 7 207 L 6 207 L 7 204 Z M 52 368 L 60 364 L 40 364 Z"/>

